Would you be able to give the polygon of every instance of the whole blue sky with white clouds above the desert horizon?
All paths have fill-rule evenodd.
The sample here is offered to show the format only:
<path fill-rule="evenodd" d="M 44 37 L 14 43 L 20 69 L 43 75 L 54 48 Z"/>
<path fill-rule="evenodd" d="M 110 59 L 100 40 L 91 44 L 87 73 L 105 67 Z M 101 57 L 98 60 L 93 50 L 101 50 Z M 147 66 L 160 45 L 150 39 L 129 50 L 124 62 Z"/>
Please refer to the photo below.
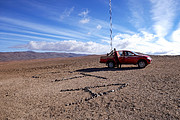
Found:
<path fill-rule="evenodd" d="M 113 48 L 180 54 L 179 0 L 112 0 Z M 0 0 L 0 52 L 110 51 L 109 0 Z"/>

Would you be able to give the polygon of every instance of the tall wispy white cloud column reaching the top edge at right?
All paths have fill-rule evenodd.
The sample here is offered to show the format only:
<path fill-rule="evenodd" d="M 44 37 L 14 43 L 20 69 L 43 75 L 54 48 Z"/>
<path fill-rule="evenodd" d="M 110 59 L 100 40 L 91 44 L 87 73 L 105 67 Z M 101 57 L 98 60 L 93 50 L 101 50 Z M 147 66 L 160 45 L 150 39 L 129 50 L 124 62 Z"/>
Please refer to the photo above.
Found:
<path fill-rule="evenodd" d="M 165 37 L 173 26 L 177 3 L 175 0 L 150 0 L 154 31 L 159 37 Z"/>

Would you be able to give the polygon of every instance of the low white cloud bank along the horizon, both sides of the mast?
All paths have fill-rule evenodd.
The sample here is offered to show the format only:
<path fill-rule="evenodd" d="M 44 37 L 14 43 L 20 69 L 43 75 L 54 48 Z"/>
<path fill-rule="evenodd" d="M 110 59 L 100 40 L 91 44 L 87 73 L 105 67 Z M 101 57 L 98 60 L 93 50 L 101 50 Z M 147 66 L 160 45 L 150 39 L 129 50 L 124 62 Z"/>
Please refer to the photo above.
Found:
<path fill-rule="evenodd" d="M 74 53 L 90 53 L 105 54 L 110 52 L 109 41 L 103 40 L 108 44 L 100 44 L 96 42 L 80 42 L 76 40 L 66 40 L 59 42 L 31 41 L 27 45 L 19 46 L 19 48 L 27 48 L 30 50 L 46 50 L 46 51 L 64 51 Z M 146 54 L 180 54 L 180 42 L 167 42 L 157 35 L 142 31 L 139 34 L 118 34 L 113 38 L 113 47 L 117 50 L 132 50 Z M 17 46 L 16 46 L 17 48 Z"/>

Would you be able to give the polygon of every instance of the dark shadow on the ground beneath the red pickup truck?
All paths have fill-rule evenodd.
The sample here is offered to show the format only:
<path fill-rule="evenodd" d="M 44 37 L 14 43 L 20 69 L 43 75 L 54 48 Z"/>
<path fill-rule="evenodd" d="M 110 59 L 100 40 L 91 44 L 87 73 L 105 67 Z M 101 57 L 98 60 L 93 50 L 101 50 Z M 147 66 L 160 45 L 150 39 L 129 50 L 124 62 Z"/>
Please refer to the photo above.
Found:
<path fill-rule="evenodd" d="M 125 70 L 136 70 L 140 69 L 139 67 L 122 67 L 122 68 L 86 68 L 86 69 L 79 69 L 76 72 L 99 72 L 99 71 L 125 71 Z"/>

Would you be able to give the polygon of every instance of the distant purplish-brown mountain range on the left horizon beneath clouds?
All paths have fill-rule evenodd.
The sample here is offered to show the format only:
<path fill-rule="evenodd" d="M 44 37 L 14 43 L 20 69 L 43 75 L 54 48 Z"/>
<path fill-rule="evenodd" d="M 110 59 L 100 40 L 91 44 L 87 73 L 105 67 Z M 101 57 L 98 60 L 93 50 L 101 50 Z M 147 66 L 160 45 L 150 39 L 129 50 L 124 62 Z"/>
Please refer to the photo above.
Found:
<path fill-rule="evenodd" d="M 86 54 L 74 54 L 74 53 L 56 53 L 56 52 L 0 52 L 0 62 L 14 61 L 14 60 L 31 60 L 31 59 L 47 59 L 58 57 L 79 57 L 86 56 Z"/>

